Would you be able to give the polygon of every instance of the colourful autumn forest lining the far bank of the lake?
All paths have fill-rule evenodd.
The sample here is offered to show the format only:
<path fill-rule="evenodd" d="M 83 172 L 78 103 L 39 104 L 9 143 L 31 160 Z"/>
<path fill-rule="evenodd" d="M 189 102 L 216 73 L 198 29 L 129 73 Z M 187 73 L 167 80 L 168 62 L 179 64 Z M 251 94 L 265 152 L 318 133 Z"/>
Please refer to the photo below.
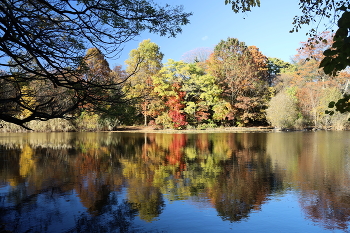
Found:
<path fill-rule="evenodd" d="M 88 72 L 82 79 L 101 85 L 118 83 L 117 89 L 93 92 L 71 119 L 31 121 L 35 131 L 115 130 L 121 125 L 145 125 L 154 129 L 207 129 L 272 126 L 280 129 L 348 129 L 348 113 L 329 114 L 329 103 L 348 92 L 350 72 L 326 75 L 320 68 L 333 35 L 301 42 L 291 62 L 266 57 L 256 46 L 237 38 L 221 40 L 215 48 L 197 48 L 183 59 L 163 64 L 160 47 L 148 40 L 130 51 L 123 66 L 110 68 L 97 48 L 84 57 Z M 50 92 L 45 81 L 23 81 L 22 93 Z M 3 86 L 6 88 L 6 86 Z M 62 100 L 67 92 L 57 94 Z M 24 97 L 25 98 L 25 97 Z M 68 98 L 67 98 L 68 99 Z M 118 101 L 99 101 L 117 99 Z M 37 104 L 40 97 L 25 100 Z M 17 113 L 26 118 L 25 108 Z M 2 122 L 2 131 L 21 131 Z"/>

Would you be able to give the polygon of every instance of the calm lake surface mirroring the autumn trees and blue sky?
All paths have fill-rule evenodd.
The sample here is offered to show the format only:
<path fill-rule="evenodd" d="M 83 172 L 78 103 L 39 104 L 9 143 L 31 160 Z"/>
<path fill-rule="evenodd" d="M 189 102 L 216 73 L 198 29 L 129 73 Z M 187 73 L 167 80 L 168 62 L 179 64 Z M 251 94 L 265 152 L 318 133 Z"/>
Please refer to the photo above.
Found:
<path fill-rule="evenodd" d="M 0 232 L 347 232 L 350 132 L 0 134 Z"/>

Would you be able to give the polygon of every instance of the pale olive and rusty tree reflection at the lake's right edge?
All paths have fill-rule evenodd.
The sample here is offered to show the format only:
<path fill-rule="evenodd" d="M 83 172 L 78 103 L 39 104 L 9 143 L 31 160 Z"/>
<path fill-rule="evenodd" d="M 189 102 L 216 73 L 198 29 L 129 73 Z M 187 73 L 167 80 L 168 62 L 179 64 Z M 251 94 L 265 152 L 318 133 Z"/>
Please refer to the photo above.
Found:
<path fill-rule="evenodd" d="M 308 218 L 326 229 L 348 229 L 350 180 L 346 161 L 348 143 L 341 134 L 303 134 L 294 177 L 301 189 L 300 203 Z M 327 142 L 327 143 L 320 143 Z"/>

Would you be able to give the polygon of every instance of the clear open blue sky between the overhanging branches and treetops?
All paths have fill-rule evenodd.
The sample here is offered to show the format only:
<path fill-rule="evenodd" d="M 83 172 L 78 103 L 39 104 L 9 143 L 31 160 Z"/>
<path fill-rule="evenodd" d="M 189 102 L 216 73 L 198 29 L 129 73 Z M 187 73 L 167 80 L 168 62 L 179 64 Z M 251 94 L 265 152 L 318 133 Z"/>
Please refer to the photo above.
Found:
<path fill-rule="evenodd" d="M 160 4 L 183 5 L 185 12 L 193 12 L 190 24 L 183 27 L 182 34 L 176 38 L 160 37 L 143 33 L 134 41 L 125 45 L 117 59 L 109 59 L 111 68 L 124 65 L 130 50 L 138 47 L 144 39 L 151 39 L 164 53 L 164 62 L 168 59 L 181 60 L 182 55 L 199 47 L 214 48 L 220 40 L 237 38 L 246 45 L 255 45 L 268 57 L 291 61 L 297 53 L 300 42 L 306 41 L 303 26 L 297 33 L 292 29 L 293 17 L 300 15 L 298 0 L 262 0 L 261 7 L 251 12 L 235 14 L 224 0 L 158 0 Z"/>

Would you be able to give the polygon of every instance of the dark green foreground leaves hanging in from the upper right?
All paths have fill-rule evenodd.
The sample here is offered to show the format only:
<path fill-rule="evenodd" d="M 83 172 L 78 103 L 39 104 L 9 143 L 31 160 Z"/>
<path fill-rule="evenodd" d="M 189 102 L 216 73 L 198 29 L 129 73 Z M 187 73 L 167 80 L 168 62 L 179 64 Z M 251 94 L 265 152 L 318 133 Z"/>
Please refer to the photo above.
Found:
<path fill-rule="evenodd" d="M 247 12 L 252 7 L 260 7 L 260 0 L 227 0 L 225 4 L 230 4 L 235 13 Z M 332 38 L 334 43 L 323 52 L 324 57 L 319 65 L 327 75 L 337 76 L 340 72 L 346 71 L 350 66 L 350 2 L 300 0 L 299 9 L 301 15 L 294 17 L 293 29 L 290 32 L 298 32 L 303 25 L 316 23 L 317 26 L 312 28 L 307 35 L 312 38 L 309 42 L 320 43 L 325 39 L 318 36 L 318 25 L 323 21 L 326 29 L 330 29 L 336 24 L 338 29 Z M 350 96 L 345 95 L 337 101 L 332 101 L 330 107 L 340 113 L 350 112 Z M 334 114 L 334 110 L 328 113 Z"/>

